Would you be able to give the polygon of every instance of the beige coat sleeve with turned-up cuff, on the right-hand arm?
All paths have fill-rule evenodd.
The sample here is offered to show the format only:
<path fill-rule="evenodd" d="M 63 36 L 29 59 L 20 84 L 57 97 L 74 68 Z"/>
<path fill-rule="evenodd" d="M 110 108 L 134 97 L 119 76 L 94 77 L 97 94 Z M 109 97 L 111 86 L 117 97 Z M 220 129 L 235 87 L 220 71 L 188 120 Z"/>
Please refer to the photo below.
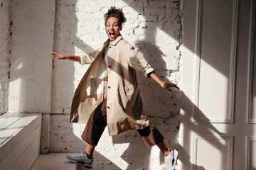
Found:
<path fill-rule="evenodd" d="M 139 52 L 135 50 L 132 45 L 129 44 L 127 48 L 128 49 L 126 49 L 127 52 L 125 52 L 125 54 L 127 55 L 130 67 L 139 72 L 142 72 L 145 77 L 149 77 L 149 73 L 154 72 L 154 69 L 151 67 L 149 62 L 146 62 L 144 57 L 140 55 Z"/>

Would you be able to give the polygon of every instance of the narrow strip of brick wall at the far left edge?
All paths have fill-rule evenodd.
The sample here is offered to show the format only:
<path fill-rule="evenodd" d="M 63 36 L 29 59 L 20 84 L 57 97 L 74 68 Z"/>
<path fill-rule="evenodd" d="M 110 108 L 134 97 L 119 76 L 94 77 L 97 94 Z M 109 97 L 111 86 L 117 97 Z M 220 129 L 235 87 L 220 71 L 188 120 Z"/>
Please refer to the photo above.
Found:
<path fill-rule="evenodd" d="M 9 64 L 11 55 L 11 0 L 0 1 L 0 115 L 8 111 Z"/>

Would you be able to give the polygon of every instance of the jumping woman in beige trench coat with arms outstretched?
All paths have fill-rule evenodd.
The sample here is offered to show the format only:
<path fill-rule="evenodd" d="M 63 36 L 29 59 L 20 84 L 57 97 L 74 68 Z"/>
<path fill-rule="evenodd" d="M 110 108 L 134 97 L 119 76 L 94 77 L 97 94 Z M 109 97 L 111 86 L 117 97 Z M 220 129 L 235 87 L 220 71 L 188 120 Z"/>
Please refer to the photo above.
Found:
<path fill-rule="evenodd" d="M 163 135 L 143 115 L 135 71 L 142 72 L 168 91 L 178 86 L 161 81 L 144 57 L 122 38 L 120 32 L 126 21 L 122 9 L 112 6 L 104 19 L 108 40 L 95 52 L 82 57 L 50 52 L 58 60 L 90 64 L 75 91 L 70 111 L 71 123 L 86 123 L 82 140 L 87 147 L 85 152 L 68 155 L 68 160 L 92 168 L 94 149 L 107 126 L 110 136 L 136 129 L 146 146 L 157 145 L 167 168 L 174 169 L 178 151 L 166 147 Z"/>

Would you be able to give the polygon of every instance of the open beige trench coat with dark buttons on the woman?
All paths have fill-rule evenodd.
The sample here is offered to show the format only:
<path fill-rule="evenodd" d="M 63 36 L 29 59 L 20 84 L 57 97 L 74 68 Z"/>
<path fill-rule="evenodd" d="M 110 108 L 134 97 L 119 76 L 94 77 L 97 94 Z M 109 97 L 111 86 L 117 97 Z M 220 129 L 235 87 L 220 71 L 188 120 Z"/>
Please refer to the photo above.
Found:
<path fill-rule="evenodd" d="M 107 52 L 107 64 L 104 60 L 105 50 L 109 46 L 107 40 L 102 47 L 95 52 L 85 55 L 85 64 L 90 67 L 82 77 L 73 96 L 70 122 L 86 123 L 92 111 L 107 97 L 107 128 L 109 135 L 117 135 L 120 132 L 132 129 L 142 129 L 149 125 L 149 119 L 143 116 L 142 100 L 139 96 L 139 86 L 135 70 L 147 75 L 154 71 L 148 62 L 139 55 L 137 50 L 119 35 L 112 41 Z M 98 70 L 107 69 L 108 80 L 102 81 L 104 91 L 100 94 L 87 91 L 97 89 L 102 77 Z M 93 79 L 93 81 L 92 81 Z M 92 83 L 94 82 L 94 83 Z M 94 87 L 93 87 L 94 86 Z"/>

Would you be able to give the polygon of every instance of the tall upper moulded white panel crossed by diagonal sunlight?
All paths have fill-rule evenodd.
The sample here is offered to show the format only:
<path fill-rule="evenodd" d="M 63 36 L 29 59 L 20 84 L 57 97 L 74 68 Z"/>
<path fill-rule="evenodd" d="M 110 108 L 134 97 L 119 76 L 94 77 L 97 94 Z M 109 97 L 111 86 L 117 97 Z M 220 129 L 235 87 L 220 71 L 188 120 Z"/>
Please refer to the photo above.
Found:
<path fill-rule="evenodd" d="M 198 1 L 197 122 L 233 123 L 237 4 Z"/>

